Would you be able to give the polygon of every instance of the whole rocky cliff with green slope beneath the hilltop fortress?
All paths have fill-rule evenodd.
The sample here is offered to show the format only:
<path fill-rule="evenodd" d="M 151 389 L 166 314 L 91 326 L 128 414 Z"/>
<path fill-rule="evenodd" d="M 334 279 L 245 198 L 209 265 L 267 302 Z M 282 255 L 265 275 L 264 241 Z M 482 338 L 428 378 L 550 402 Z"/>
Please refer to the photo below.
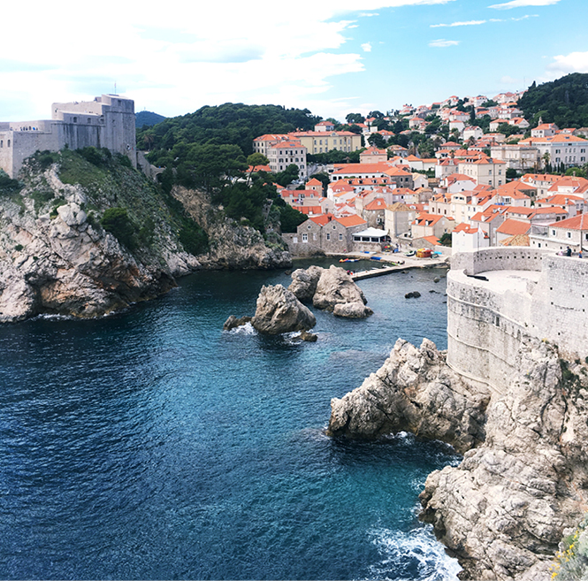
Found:
<path fill-rule="evenodd" d="M 140 172 L 101 150 L 89 154 L 45 152 L 28 160 L 19 183 L 0 176 L 0 322 L 101 316 L 201 267 L 290 264 L 210 204 L 201 227 Z"/>

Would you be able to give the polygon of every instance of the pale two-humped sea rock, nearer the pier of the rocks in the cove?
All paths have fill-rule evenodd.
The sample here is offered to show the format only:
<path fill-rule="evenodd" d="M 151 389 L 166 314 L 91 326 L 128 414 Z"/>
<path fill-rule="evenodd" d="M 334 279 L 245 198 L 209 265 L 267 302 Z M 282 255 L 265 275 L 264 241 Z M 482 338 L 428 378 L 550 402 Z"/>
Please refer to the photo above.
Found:
<path fill-rule="evenodd" d="M 328 269 L 311 266 L 306 271 L 292 273 L 289 289 L 300 301 L 310 301 L 317 309 L 330 310 L 338 317 L 369 317 L 373 311 L 366 307 L 363 291 L 342 268 Z"/>

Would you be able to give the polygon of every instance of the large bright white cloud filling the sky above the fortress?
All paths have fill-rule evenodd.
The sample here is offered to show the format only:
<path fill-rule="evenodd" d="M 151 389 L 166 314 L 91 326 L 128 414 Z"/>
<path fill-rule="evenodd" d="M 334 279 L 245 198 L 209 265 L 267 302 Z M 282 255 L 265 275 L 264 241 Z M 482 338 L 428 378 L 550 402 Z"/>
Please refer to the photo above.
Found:
<path fill-rule="evenodd" d="M 26 22 L 27 42 L 22 27 L 4 27 L 4 46 L 18 48 L 18 62 L 0 63 L 2 103 L 14 102 L 3 111 L 44 118 L 50 103 L 91 99 L 115 82 L 137 110 L 164 115 L 224 101 L 301 106 L 325 93 L 334 76 L 364 70 L 361 54 L 347 49 L 359 14 L 454 1 L 300 0 L 296 10 L 285 4 L 268 11 L 256 0 L 230 10 L 182 0 L 168 0 L 164 10 L 143 0 L 137 10 L 133 0 L 118 0 L 106 20 L 95 4 L 77 0 L 37 3 L 33 12 L 27 3 L 9 3 L 4 21 Z"/>

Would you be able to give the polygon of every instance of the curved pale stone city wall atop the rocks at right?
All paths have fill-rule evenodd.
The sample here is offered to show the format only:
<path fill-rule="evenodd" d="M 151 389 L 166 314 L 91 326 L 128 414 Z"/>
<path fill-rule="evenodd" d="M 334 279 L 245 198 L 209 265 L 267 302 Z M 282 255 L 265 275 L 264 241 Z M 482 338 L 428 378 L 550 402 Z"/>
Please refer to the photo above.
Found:
<path fill-rule="evenodd" d="M 586 260 L 530 248 L 460 253 L 447 274 L 447 363 L 503 393 L 525 336 L 548 340 L 569 358 L 584 359 L 586 310 Z"/>

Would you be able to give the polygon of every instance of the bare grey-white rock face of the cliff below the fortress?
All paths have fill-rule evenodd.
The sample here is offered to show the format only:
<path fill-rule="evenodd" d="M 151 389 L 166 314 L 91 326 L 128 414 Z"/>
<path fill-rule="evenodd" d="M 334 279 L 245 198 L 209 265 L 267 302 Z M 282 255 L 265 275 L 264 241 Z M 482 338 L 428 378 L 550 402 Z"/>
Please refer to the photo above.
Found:
<path fill-rule="evenodd" d="M 84 207 L 108 207 L 109 195 L 64 183 L 55 165 L 31 171 L 20 192 L 0 195 L 0 322 L 39 313 L 97 317 L 165 293 L 175 277 L 199 268 L 164 220 L 153 225 L 157 244 L 134 252 L 105 232 Z"/>

